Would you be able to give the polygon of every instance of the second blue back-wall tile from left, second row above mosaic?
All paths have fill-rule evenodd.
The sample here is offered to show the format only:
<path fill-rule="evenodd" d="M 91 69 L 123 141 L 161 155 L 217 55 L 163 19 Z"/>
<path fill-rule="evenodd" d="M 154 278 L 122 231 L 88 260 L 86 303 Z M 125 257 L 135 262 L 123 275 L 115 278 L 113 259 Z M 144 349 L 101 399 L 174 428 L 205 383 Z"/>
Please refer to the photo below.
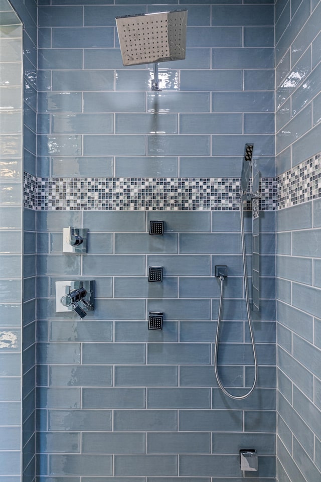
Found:
<path fill-rule="evenodd" d="M 144 155 L 145 154 L 145 136 L 125 136 L 112 135 L 107 136 L 84 136 L 84 154 L 90 155 Z M 76 153 L 75 153 L 76 154 Z"/>

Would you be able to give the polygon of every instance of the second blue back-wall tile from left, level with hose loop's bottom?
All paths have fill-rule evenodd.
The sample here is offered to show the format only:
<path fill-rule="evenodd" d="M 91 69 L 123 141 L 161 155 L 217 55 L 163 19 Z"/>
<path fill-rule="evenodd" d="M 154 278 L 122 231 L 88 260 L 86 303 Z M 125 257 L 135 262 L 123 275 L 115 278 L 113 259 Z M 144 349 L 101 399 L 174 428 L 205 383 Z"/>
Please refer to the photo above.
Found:
<path fill-rule="evenodd" d="M 145 408 L 143 388 L 83 388 L 83 408 Z M 129 428 L 126 428 L 128 431 Z M 140 429 L 139 429 L 140 430 Z"/>

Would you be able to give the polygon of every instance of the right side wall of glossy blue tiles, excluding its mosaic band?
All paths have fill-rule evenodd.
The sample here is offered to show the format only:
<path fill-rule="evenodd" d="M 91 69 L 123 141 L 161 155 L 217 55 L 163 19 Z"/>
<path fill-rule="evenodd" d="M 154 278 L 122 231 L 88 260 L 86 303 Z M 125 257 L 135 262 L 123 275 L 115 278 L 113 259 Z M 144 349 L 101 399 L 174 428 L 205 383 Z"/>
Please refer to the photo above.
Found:
<path fill-rule="evenodd" d="M 277 173 L 320 150 L 320 22 L 318 1 L 276 2 Z M 277 213 L 279 482 L 321 478 L 320 212 L 314 200 Z"/>

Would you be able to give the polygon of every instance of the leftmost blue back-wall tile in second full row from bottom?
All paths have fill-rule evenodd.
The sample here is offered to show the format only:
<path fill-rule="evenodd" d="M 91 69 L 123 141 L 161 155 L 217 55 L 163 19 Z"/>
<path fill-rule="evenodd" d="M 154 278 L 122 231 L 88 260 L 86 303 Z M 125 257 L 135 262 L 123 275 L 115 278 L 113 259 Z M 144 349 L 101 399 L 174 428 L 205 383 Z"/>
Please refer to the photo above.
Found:
<path fill-rule="evenodd" d="M 37 452 L 80 452 L 79 433 L 48 433 L 39 431 L 37 435 Z"/>

